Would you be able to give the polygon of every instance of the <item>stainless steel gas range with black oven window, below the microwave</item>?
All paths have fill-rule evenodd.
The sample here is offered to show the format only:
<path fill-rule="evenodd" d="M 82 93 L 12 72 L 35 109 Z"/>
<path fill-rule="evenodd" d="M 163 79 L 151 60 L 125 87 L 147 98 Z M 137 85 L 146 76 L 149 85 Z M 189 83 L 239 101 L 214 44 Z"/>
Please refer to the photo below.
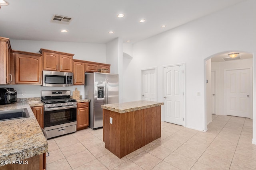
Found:
<path fill-rule="evenodd" d="M 70 90 L 43 90 L 44 131 L 48 138 L 76 131 L 76 100 Z"/>

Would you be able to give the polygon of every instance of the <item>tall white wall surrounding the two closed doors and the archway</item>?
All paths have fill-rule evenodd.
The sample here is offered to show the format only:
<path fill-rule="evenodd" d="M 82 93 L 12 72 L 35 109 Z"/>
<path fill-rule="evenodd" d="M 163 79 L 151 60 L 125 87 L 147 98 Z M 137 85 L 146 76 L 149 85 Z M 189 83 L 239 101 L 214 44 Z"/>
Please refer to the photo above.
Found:
<path fill-rule="evenodd" d="M 256 54 L 255 7 L 256 1 L 248 0 L 134 43 L 133 58 L 124 72 L 126 101 L 140 100 L 140 70 L 157 67 L 157 100 L 164 102 L 163 66 L 185 63 L 185 126 L 206 130 L 205 61 L 223 51 L 241 50 Z M 231 26 L 234 23 L 236 26 Z M 197 92 L 201 95 L 197 96 Z M 256 110 L 254 112 L 256 115 Z"/>

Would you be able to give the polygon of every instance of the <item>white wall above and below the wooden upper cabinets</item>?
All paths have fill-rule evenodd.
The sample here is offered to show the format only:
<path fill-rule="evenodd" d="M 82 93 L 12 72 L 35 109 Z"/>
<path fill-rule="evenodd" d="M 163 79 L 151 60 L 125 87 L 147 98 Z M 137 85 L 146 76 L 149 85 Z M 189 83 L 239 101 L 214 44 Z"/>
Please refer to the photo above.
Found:
<path fill-rule="evenodd" d="M 15 39 L 11 39 L 10 43 L 13 50 L 39 53 L 40 48 L 44 48 L 65 53 L 72 53 L 74 54 L 73 59 L 106 63 L 106 44 L 104 43 L 71 43 Z M 84 97 L 84 86 L 52 88 L 42 87 L 40 85 L 0 85 L 0 87 L 11 87 L 16 89 L 18 98 L 41 97 L 41 90 L 71 90 L 72 94 L 75 88 L 77 88 L 80 91 L 80 95 Z M 26 96 L 22 96 L 22 92 L 26 92 Z"/>

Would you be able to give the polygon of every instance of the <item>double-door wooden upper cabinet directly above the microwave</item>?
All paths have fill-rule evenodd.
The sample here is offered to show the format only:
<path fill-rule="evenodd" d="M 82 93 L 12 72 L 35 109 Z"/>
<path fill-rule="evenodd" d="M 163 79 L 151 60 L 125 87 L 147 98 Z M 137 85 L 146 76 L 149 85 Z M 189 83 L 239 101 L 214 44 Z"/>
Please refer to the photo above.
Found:
<path fill-rule="evenodd" d="M 43 55 L 43 70 L 72 72 L 72 60 L 74 54 L 62 53 L 48 49 L 40 49 Z"/>

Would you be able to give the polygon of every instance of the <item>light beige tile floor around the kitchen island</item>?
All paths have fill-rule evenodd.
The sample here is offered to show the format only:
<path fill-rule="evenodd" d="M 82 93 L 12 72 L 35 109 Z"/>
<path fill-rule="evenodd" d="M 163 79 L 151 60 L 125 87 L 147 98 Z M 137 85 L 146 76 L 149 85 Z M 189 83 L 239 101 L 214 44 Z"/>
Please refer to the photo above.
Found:
<path fill-rule="evenodd" d="M 49 139 L 47 170 L 256 169 L 252 120 L 212 115 L 207 132 L 162 122 L 162 137 L 119 159 L 105 149 L 102 129 Z"/>

